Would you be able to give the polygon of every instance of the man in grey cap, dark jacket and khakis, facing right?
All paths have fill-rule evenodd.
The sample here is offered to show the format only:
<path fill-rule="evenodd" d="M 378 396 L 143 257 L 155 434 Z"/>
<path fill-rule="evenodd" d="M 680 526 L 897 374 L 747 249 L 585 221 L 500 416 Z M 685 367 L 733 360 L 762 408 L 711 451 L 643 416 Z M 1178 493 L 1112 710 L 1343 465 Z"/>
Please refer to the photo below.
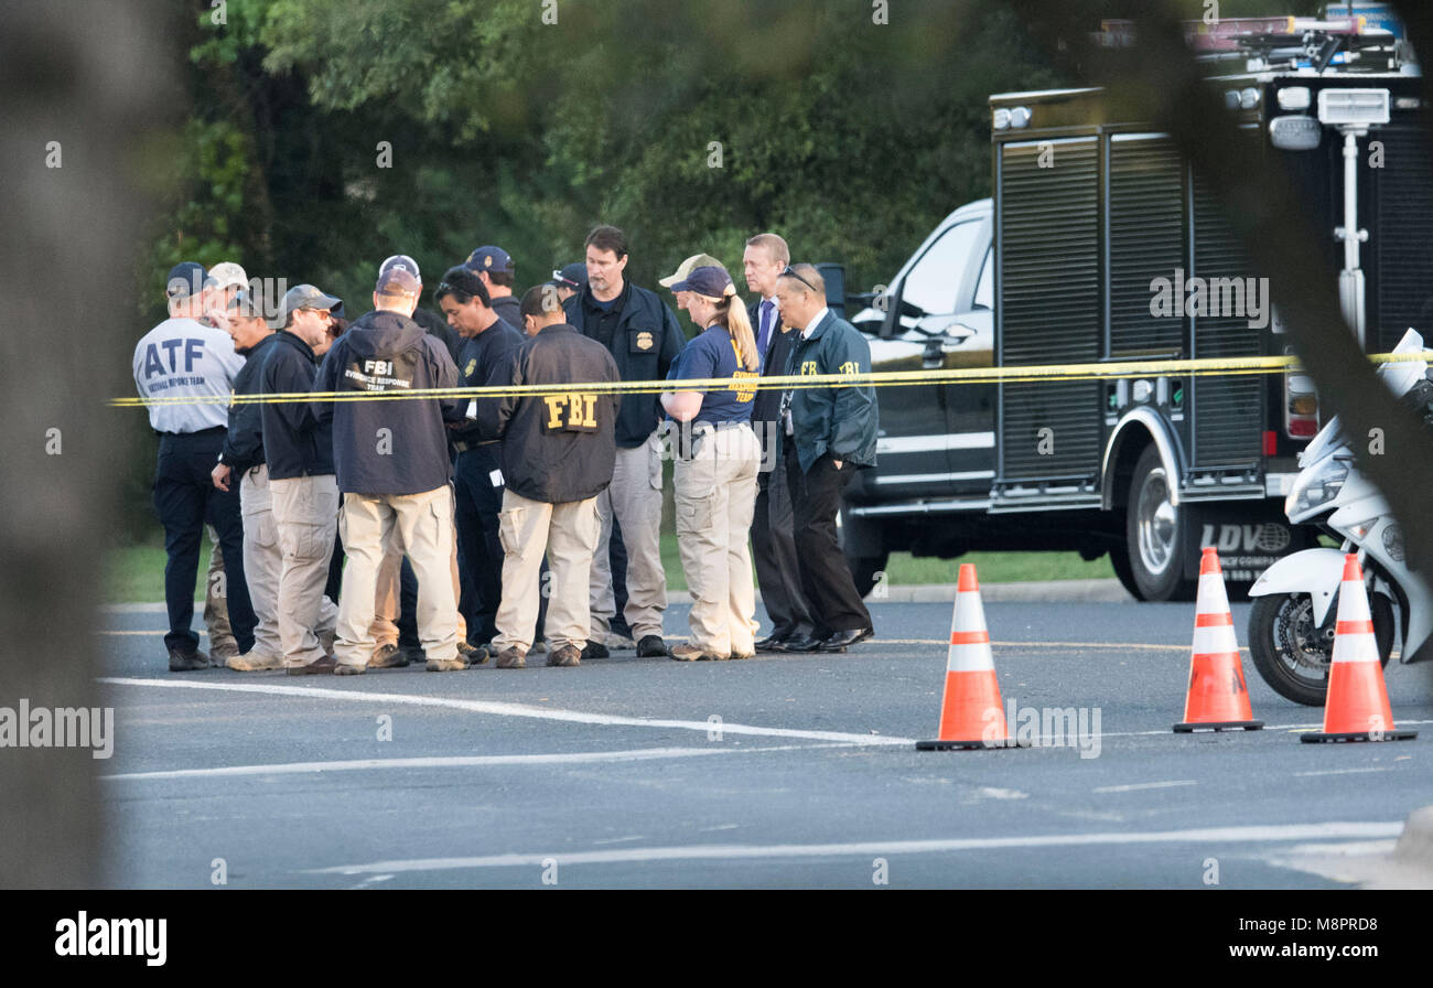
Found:
<path fill-rule="evenodd" d="M 327 338 L 332 310 L 341 304 L 314 285 L 289 288 L 281 308 L 285 326 L 259 376 L 264 394 L 314 390 L 314 347 Z M 321 422 L 308 402 L 265 402 L 259 409 L 274 528 L 284 555 L 278 578 L 284 667 L 291 675 L 332 673 L 335 662 L 328 650 L 338 608 L 324 597 L 338 531 L 332 423 Z"/>

